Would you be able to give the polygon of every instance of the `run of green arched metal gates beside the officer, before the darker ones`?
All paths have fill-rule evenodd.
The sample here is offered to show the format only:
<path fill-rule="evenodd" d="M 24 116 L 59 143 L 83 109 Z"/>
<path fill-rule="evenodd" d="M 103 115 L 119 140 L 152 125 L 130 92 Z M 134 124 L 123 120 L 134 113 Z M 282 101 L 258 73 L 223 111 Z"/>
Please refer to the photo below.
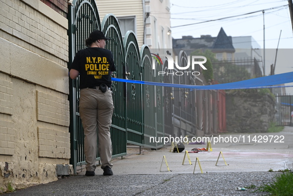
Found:
<path fill-rule="evenodd" d="M 85 39 L 90 32 L 101 30 L 107 37 L 112 38 L 107 41 L 106 49 L 111 50 L 114 55 L 117 72 L 114 72 L 113 76 L 162 82 L 162 78 L 153 78 L 149 48 L 143 46 L 140 53 L 132 31 L 128 31 L 123 39 L 117 18 L 113 14 L 106 15 L 101 24 L 95 0 L 73 0 L 68 10 L 69 69 L 76 52 L 85 48 Z M 163 88 L 124 82 L 113 82 L 112 87 L 115 107 L 111 126 L 112 157 L 126 155 L 127 143 L 155 149 L 162 147 L 162 143 L 145 141 L 149 141 L 152 136 L 164 135 Z M 78 109 L 79 78 L 70 79 L 69 88 L 70 164 L 76 173 L 76 166 L 85 164 L 84 134 Z M 100 160 L 99 154 L 96 160 Z"/>

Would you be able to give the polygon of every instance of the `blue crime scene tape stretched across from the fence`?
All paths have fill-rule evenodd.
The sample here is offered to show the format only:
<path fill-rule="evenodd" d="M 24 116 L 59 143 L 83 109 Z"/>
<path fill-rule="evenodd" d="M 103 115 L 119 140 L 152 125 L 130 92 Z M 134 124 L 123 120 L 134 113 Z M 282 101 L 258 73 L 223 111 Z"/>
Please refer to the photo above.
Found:
<path fill-rule="evenodd" d="M 140 80 L 130 80 L 121 78 L 112 78 L 112 81 L 128 82 L 137 84 L 147 84 L 155 86 L 166 86 L 175 88 L 189 88 L 190 90 L 228 90 L 228 89 L 247 89 L 247 88 L 279 88 L 279 87 L 293 87 L 293 85 L 287 86 L 273 86 L 278 84 L 285 84 L 293 82 L 293 72 L 280 73 L 276 75 L 269 75 L 264 77 L 258 77 L 238 82 L 231 82 L 225 84 L 213 84 L 213 85 L 185 85 L 185 84 L 171 84 L 160 83 Z"/>

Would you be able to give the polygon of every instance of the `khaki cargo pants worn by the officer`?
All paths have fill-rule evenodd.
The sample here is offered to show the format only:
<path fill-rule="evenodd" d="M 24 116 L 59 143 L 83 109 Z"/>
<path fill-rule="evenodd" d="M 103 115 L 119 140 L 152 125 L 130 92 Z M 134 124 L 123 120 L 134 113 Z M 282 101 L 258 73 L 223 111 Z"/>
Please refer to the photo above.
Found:
<path fill-rule="evenodd" d="M 112 167 L 112 142 L 110 127 L 114 110 L 112 92 L 103 93 L 97 89 L 80 89 L 79 114 L 84 129 L 84 153 L 86 170 L 95 171 L 97 157 L 97 131 L 99 136 L 99 152 L 101 168 Z"/>

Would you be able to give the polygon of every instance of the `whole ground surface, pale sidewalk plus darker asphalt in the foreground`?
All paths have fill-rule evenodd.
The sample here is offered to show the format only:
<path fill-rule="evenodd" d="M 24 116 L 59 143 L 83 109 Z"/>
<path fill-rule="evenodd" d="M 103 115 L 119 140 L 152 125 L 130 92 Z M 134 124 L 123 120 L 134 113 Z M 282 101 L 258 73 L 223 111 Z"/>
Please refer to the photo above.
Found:
<path fill-rule="evenodd" d="M 206 148 L 207 144 L 186 144 L 181 153 L 170 152 L 170 146 L 166 146 L 159 150 L 142 148 L 139 154 L 139 147 L 128 146 L 127 156 L 112 161 L 114 176 L 103 176 L 103 170 L 97 167 L 95 176 L 86 177 L 83 167 L 78 170 L 77 176 L 3 196 L 257 196 L 261 194 L 251 193 L 255 189 L 235 191 L 235 188 L 251 185 L 259 187 L 263 183 L 271 182 L 278 174 L 268 172 L 269 170 L 293 168 L 292 127 L 286 127 L 280 133 L 224 134 L 213 137 L 216 136 L 222 137 L 224 142 L 214 143 L 211 140 L 212 151 L 188 153 L 192 165 L 187 156 L 182 165 L 185 150 Z M 252 141 L 253 137 L 256 140 Z M 271 142 L 264 142 L 267 137 L 268 141 L 271 137 Z M 234 142 L 236 138 L 237 142 Z M 225 139 L 230 140 L 225 142 Z M 172 171 L 168 171 L 164 156 Z M 196 157 L 203 174 L 198 162 L 193 174 Z"/>

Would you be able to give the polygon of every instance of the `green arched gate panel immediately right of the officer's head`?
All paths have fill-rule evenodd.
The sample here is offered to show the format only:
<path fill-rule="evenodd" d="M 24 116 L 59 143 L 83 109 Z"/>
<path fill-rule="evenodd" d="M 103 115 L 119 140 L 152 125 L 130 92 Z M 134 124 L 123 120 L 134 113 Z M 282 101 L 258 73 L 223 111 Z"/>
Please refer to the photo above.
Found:
<path fill-rule="evenodd" d="M 111 40 L 106 44 L 106 49 L 112 51 L 116 71 L 112 77 L 125 78 L 124 46 L 121 30 L 117 18 L 107 14 L 102 21 L 102 31 Z M 126 102 L 125 84 L 113 81 L 112 83 L 114 113 L 111 125 L 112 157 L 126 155 Z"/>

